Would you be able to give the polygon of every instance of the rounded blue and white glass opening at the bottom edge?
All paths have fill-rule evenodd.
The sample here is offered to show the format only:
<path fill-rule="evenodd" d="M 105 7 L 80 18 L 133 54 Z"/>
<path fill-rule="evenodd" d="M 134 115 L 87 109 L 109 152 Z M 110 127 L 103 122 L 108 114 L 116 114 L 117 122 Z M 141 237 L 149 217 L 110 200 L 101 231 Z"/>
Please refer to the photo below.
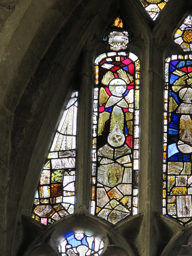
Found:
<path fill-rule="evenodd" d="M 58 246 L 61 256 L 99 256 L 104 249 L 104 242 L 82 230 L 70 232 Z"/>

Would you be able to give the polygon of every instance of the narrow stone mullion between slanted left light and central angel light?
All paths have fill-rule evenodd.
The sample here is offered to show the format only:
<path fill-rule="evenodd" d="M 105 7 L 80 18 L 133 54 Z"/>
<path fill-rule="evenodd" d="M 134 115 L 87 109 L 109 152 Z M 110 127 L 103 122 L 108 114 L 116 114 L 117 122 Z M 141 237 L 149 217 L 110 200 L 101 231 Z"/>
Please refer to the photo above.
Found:
<path fill-rule="evenodd" d="M 84 58 L 78 102 L 77 171 L 75 213 L 90 213 L 92 174 L 93 70 L 91 58 Z"/>

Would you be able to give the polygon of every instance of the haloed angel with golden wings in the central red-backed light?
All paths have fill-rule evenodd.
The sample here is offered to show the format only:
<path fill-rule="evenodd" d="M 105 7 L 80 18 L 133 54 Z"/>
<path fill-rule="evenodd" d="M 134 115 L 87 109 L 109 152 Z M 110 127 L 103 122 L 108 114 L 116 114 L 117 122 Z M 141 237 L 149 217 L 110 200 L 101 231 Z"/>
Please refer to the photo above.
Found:
<path fill-rule="evenodd" d="M 123 133 L 125 115 L 123 109 L 128 109 L 133 104 L 134 90 L 130 89 L 126 94 L 127 85 L 133 81 L 132 76 L 124 70 L 118 70 L 118 78 L 115 78 L 111 71 L 108 71 L 103 79 L 102 84 L 108 86 L 111 95 L 104 103 L 104 108 L 111 108 L 111 114 L 104 111 L 100 114 L 98 135 L 102 135 L 105 122 L 110 119 L 110 132 L 108 135 L 108 143 L 113 147 L 120 147 L 125 142 Z M 126 95 L 125 95 L 125 94 Z M 129 109 L 130 112 L 132 108 Z"/>

